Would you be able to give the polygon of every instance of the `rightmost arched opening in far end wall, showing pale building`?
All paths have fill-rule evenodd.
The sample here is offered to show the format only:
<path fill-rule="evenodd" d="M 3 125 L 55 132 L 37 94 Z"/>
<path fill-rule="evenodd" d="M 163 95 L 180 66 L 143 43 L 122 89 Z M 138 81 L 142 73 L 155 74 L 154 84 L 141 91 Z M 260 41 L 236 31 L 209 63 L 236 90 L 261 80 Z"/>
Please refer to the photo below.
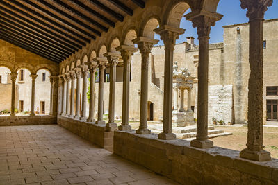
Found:
<path fill-rule="evenodd" d="M 35 114 L 49 114 L 51 112 L 51 82 L 49 78 L 51 74 L 47 69 L 40 69 L 36 74 L 38 77 L 35 79 Z"/>

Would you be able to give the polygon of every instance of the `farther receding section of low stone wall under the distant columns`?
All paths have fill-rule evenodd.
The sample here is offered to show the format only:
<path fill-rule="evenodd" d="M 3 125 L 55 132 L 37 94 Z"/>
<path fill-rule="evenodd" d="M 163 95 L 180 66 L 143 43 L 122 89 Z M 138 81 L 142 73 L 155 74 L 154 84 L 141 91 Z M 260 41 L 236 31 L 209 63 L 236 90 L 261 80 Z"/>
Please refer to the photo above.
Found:
<path fill-rule="evenodd" d="M 77 119 L 58 116 L 57 123 L 91 143 L 113 152 L 113 132 L 106 132 L 105 125 L 96 125 Z"/>

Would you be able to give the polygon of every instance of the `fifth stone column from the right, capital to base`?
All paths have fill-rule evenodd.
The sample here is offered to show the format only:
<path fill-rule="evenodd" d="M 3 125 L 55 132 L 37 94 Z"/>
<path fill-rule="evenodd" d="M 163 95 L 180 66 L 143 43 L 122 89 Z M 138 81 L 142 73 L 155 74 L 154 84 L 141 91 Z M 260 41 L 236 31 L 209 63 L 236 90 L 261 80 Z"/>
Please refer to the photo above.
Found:
<path fill-rule="evenodd" d="M 138 49 L 134 46 L 122 45 L 116 48 L 121 52 L 122 59 L 124 60 L 124 81 L 122 87 L 122 123 L 118 127 L 119 130 L 131 130 L 129 125 L 129 82 L 130 82 L 130 66 L 131 55 Z"/>

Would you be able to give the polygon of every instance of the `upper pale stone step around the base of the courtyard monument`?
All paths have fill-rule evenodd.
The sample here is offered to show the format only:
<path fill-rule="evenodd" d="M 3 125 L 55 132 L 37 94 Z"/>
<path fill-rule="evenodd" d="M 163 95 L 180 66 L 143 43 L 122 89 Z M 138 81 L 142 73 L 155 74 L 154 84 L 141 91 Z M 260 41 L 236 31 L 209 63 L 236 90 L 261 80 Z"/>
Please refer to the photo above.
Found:
<path fill-rule="evenodd" d="M 162 132 L 163 126 L 162 125 L 149 125 L 148 127 L 150 130 L 159 130 Z M 208 126 L 208 130 L 214 130 L 213 126 Z M 172 127 L 172 132 L 181 134 L 181 133 L 190 133 L 190 132 L 196 132 L 197 126 L 196 125 L 190 125 L 186 127 Z"/>

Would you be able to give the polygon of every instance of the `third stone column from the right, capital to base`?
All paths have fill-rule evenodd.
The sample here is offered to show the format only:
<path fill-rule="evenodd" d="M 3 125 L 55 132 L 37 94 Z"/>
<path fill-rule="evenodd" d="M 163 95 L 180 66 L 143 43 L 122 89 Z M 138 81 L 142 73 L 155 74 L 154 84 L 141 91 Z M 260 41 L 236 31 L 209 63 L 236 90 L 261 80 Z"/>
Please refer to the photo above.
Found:
<path fill-rule="evenodd" d="M 165 46 L 163 132 L 158 134 L 158 139 L 176 139 L 176 135 L 172 133 L 173 55 L 176 39 L 184 33 L 184 30 L 164 25 L 154 31 L 161 35 Z"/>

